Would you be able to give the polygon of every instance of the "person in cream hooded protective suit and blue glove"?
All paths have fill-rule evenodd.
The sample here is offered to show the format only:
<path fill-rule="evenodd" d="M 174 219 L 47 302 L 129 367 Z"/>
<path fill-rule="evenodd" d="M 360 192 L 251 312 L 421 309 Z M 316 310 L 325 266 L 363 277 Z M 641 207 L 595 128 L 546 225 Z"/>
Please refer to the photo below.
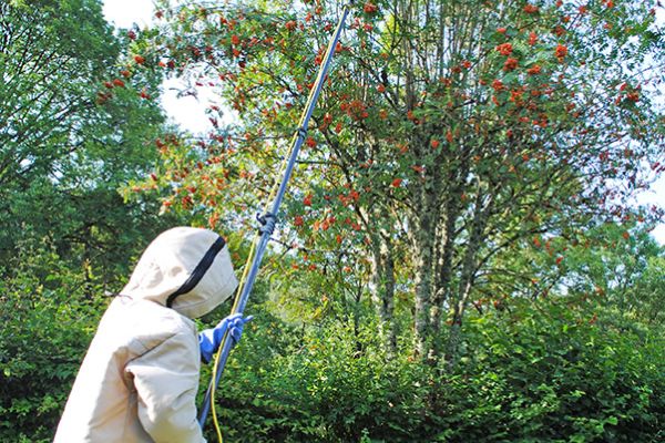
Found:
<path fill-rule="evenodd" d="M 195 404 L 201 360 L 211 360 L 226 330 L 237 341 L 247 319 L 231 316 L 201 334 L 192 319 L 237 285 L 217 234 L 161 234 L 104 312 L 54 443 L 205 442 Z"/>

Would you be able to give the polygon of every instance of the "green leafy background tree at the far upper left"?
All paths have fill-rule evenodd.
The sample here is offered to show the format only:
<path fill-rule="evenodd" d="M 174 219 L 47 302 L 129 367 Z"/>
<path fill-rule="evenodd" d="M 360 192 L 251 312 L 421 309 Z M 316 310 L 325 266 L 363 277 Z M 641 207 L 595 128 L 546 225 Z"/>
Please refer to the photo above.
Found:
<path fill-rule="evenodd" d="M 47 240 L 114 279 L 133 243 L 162 226 L 150 203 L 117 193 L 152 167 L 161 111 L 124 86 L 122 45 L 98 2 L 4 2 L 0 27 L 0 257 Z"/>

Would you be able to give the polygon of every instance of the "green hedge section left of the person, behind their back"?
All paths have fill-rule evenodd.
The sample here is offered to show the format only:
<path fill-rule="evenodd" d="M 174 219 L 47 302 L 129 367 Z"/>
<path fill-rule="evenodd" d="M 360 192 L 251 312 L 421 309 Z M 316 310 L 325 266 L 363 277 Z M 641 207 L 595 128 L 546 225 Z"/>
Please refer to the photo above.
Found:
<path fill-rule="evenodd" d="M 79 365 L 103 313 L 89 276 L 37 255 L 39 268 L 0 282 L 0 441 L 50 442 Z M 52 260 L 51 260 L 52 259 Z M 30 266 L 35 265 L 31 264 Z M 38 265 L 35 265 L 35 269 Z M 7 274 L 6 274 L 7 275 Z"/>

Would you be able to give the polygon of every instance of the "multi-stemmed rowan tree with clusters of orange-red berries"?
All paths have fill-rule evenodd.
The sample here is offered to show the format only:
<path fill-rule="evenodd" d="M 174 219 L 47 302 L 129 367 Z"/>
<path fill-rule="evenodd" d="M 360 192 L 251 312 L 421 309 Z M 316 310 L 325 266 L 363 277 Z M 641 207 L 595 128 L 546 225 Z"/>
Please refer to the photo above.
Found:
<path fill-rule="evenodd" d="M 392 343 L 396 287 L 409 287 L 415 351 L 452 363 L 483 287 L 519 295 L 500 286 L 498 255 L 534 236 L 579 239 L 603 220 L 659 217 L 627 205 L 665 171 L 665 52 L 652 7 L 355 3 L 283 216 L 298 270 L 347 269 L 340 281 L 368 284 Z M 218 102 L 208 134 L 157 141 L 150 187 L 213 227 L 247 224 L 341 6 L 158 8 L 141 56 L 186 80 L 184 93 L 212 90 Z"/>

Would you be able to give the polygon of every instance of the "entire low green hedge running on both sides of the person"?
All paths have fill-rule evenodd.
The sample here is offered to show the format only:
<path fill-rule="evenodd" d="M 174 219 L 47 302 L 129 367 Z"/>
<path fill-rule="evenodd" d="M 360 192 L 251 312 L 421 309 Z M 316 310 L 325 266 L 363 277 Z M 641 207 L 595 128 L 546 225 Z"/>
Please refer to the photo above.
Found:
<path fill-rule="evenodd" d="M 102 288 L 57 275 L 0 284 L 0 441 L 52 439 L 104 310 Z M 257 318 L 219 388 L 224 433 L 229 442 L 664 441 L 663 336 L 563 301 L 470 319 L 452 371 L 412 358 L 409 337 L 388 353 L 370 316 L 358 327 L 295 327 L 253 305 Z"/>

